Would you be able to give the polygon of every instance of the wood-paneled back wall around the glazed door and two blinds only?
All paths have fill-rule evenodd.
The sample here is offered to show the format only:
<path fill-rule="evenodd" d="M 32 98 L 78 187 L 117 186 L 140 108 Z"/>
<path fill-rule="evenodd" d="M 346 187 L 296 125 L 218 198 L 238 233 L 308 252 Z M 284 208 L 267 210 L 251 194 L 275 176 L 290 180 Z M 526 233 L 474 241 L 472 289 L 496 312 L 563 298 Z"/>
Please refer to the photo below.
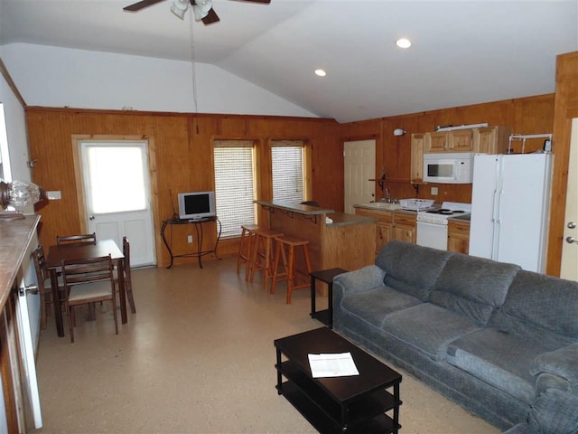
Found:
<path fill-rule="evenodd" d="M 251 139 L 266 156 L 270 139 L 303 139 L 312 146 L 312 197 L 331 209 L 343 207 L 343 156 L 337 139 L 339 124 L 332 119 L 256 116 L 219 116 L 182 113 L 152 113 L 116 110 L 26 109 L 30 159 L 37 160 L 33 181 L 45 190 L 60 190 L 62 199 L 43 203 L 40 241 L 49 246 L 58 234 L 86 230 L 79 213 L 78 189 L 73 162 L 74 137 L 141 137 L 154 141 L 153 177 L 154 230 L 157 263 L 168 264 L 168 253 L 160 238 L 163 220 L 172 216 L 172 203 L 180 191 L 214 189 L 212 140 Z M 259 158 L 260 161 L 266 161 Z M 270 167 L 259 166 L 266 175 Z M 263 184 L 260 199 L 271 199 L 271 186 Z M 117 192 L 122 194 L 122 186 Z M 174 229 L 174 251 L 190 250 L 185 227 Z M 183 233 L 180 233 L 182 231 Z M 212 232 L 212 231 L 211 231 Z M 212 235 L 212 234 L 211 234 Z M 214 236 L 205 236 L 207 245 Z M 219 256 L 236 254 L 237 241 L 221 241 Z M 180 259 L 193 261 L 194 259 Z M 179 261 L 175 260 L 175 263 Z"/>

